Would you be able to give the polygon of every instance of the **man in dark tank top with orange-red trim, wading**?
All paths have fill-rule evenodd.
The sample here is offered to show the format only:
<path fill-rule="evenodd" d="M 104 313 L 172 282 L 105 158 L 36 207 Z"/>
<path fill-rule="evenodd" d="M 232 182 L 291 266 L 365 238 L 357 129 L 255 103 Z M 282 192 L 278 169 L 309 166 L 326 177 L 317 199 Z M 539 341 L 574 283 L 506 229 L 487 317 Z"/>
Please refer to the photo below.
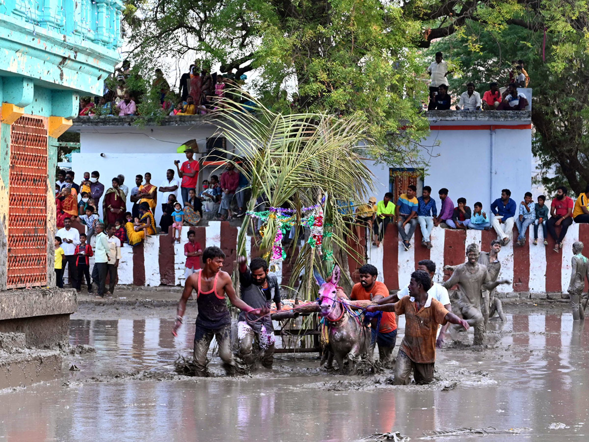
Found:
<path fill-rule="evenodd" d="M 193 273 L 186 278 L 184 292 L 178 302 L 176 324 L 172 333 L 177 336 L 178 328 L 183 323 L 186 301 L 193 290 L 196 291 L 198 315 L 196 317 L 196 331 L 194 332 L 194 365 L 196 375 L 207 375 L 207 352 L 213 340 L 213 336 L 219 344 L 219 355 L 223 360 L 223 368 L 227 375 L 234 372 L 235 362 L 231 352 L 231 316 L 227 308 L 226 295 L 231 304 L 250 314 L 254 319 L 256 315 L 265 315 L 269 309 L 254 309 L 241 299 L 237 298 L 233 282 L 229 273 L 221 271 L 225 253 L 218 247 L 207 247 L 203 252 L 204 269 Z"/>

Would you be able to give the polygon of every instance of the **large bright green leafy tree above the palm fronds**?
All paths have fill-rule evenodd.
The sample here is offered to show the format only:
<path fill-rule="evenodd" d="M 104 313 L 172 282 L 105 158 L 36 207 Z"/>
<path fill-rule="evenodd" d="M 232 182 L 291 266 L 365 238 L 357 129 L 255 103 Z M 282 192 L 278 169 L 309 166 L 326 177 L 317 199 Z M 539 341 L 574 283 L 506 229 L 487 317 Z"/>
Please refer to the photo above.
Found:
<path fill-rule="evenodd" d="M 400 8 L 380 0 L 132 0 L 135 8 L 127 23 L 140 65 L 196 57 L 237 78 L 255 70 L 252 92 L 273 110 L 299 111 L 279 100 L 292 84 L 305 111 L 365 118 L 388 147 L 375 152 L 383 160 L 417 159 L 412 140 L 428 129 L 413 42 L 420 25 Z"/>

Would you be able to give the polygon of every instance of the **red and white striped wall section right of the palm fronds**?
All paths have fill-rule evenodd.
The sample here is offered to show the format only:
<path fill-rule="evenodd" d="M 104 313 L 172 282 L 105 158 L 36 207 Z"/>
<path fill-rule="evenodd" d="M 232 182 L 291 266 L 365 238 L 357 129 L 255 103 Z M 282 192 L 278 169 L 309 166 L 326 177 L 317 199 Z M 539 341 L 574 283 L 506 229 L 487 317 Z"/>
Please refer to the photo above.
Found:
<path fill-rule="evenodd" d="M 557 230 L 559 232 L 559 230 Z M 501 249 L 501 273 L 499 278 L 508 278 L 511 285 L 501 285 L 498 291 L 509 292 L 563 292 L 568 288 L 573 258 L 573 242 L 580 240 L 588 247 L 589 253 L 589 225 L 573 224 L 565 236 L 560 253 L 553 250 L 554 240 L 548 238 L 548 245 L 544 246 L 542 229 L 538 231 L 538 245 L 533 245 L 533 226 L 530 226 L 524 246 L 515 245 L 517 229 L 514 227 L 511 242 Z M 411 249 L 405 251 L 399 241 L 396 225 L 389 224 L 385 238 L 380 245 L 370 246 L 369 262 L 378 268 L 383 276 L 383 282 L 389 289 L 397 289 L 409 283 L 411 272 L 416 268 L 419 260 L 431 259 L 436 263 L 438 282 L 448 279 L 449 272 L 444 274 L 445 265 L 458 265 L 466 260 L 466 246 L 477 243 L 481 250 L 488 252 L 491 241 L 497 238 L 494 230 L 451 230 L 434 227 L 431 241 L 434 248 L 421 246 L 421 229 L 415 230 L 411 240 Z M 530 239 L 531 238 L 531 239 Z M 585 253 L 585 254 L 587 254 Z M 350 259 L 350 271 L 357 268 L 357 264 Z"/>

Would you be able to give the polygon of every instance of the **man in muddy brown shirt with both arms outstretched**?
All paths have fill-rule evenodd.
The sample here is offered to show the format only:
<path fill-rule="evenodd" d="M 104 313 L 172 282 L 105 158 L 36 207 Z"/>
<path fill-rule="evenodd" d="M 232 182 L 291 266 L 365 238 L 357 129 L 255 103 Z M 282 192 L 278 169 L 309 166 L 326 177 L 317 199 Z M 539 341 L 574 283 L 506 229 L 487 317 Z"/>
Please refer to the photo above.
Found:
<path fill-rule="evenodd" d="M 401 342 L 395 364 L 395 385 L 409 384 L 411 370 L 416 384 L 429 384 L 434 380 L 436 361 L 436 334 L 438 325 L 446 322 L 457 324 L 468 330 L 464 319 L 444 308 L 428 290 L 432 286 L 429 274 L 423 270 L 411 273 L 409 295 L 395 304 L 372 305 L 369 312 L 395 312 L 405 315 L 405 337 Z"/>

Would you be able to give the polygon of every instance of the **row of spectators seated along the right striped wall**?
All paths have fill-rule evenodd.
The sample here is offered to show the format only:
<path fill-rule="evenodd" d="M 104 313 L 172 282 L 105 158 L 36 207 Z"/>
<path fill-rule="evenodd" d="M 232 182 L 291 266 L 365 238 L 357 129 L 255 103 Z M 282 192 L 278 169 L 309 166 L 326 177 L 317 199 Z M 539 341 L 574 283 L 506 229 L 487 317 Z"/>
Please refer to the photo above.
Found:
<path fill-rule="evenodd" d="M 375 197 L 370 197 L 368 204 L 360 204 L 356 209 L 355 223 L 356 235 L 360 238 L 362 226 L 373 232 L 372 244 L 379 247 L 389 222 L 395 221 L 399 230 L 399 237 L 403 248 L 411 248 L 411 238 L 419 225 L 422 233 L 421 245 L 432 248 L 431 232 L 434 226 L 445 229 L 494 229 L 501 245 L 505 246 L 511 240 L 511 232 L 515 227 L 518 230 L 517 245 L 525 245 L 525 233 L 528 227 L 534 226 L 534 245 L 538 244 L 538 229 L 542 227 L 542 239 L 544 245 L 548 245 L 548 235 L 554 239 L 554 251 L 560 252 L 562 241 L 567 235 L 568 227 L 575 223 L 589 223 L 589 184 L 585 192 L 581 193 L 574 201 L 567 196 L 568 189 L 560 186 L 557 194 L 550 204 L 550 215 L 546 205 L 546 197 L 540 195 L 534 203 L 531 192 L 525 192 L 524 199 L 517 204 L 511 198 L 511 191 L 503 189 L 501 197 L 491 203 L 491 213 L 483 210 L 481 202 L 475 202 L 473 209 L 466 205 L 466 199 L 460 197 L 456 205 L 448 196 L 448 189 L 438 191 L 440 208 L 431 197 L 432 189 L 423 186 L 422 196 L 416 197 L 417 188 L 412 184 L 408 186 L 406 193 L 401 194 L 396 204 L 393 203 L 393 194 L 385 193 L 378 203 Z M 557 232 L 557 227 L 560 231 Z"/>

